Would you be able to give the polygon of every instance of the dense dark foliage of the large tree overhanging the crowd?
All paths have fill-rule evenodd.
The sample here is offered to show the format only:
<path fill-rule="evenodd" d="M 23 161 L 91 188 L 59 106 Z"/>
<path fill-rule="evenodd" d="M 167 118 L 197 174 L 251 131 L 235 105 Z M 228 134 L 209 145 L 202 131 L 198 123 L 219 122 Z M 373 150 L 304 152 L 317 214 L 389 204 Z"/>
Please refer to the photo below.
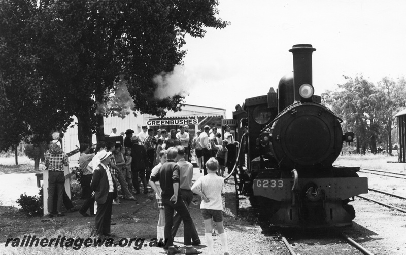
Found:
<path fill-rule="evenodd" d="M 183 95 L 154 98 L 152 78 L 182 64 L 187 33 L 204 37 L 205 27 L 228 25 L 217 17 L 217 5 L 216 0 L 2 1 L 0 74 L 6 99 L 0 115 L 9 124 L 0 129 L 16 135 L 11 143 L 41 140 L 52 130 L 65 130 L 75 115 L 79 142 L 89 142 L 101 117 L 123 113 L 117 102 L 106 108 L 120 84 L 127 87 L 132 110 L 157 116 L 179 111 Z M 0 139 L 6 146 L 8 138 Z"/>

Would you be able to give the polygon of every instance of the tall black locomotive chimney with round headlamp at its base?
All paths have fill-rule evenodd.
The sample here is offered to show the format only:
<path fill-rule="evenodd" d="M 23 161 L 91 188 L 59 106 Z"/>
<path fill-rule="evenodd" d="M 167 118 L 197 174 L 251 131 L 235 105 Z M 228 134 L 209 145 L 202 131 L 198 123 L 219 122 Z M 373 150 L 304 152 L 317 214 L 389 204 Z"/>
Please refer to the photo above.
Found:
<path fill-rule="evenodd" d="M 311 44 L 296 44 L 289 51 L 293 53 L 294 100 L 311 102 L 314 94 L 312 80 L 312 53 L 316 49 Z"/>

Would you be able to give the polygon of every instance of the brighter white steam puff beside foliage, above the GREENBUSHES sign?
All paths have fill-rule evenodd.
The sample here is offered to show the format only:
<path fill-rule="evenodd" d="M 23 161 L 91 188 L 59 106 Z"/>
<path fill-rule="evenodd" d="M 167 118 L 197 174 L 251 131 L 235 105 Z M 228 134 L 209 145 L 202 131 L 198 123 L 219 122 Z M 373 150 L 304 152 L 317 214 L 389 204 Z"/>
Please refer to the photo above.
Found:
<path fill-rule="evenodd" d="M 158 85 L 154 94 L 157 99 L 175 95 L 186 96 L 189 94 L 188 87 L 191 86 L 183 65 L 175 65 L 172 72 L 161 72 L 161 74 L 155 75 L 152 81 Z"/>

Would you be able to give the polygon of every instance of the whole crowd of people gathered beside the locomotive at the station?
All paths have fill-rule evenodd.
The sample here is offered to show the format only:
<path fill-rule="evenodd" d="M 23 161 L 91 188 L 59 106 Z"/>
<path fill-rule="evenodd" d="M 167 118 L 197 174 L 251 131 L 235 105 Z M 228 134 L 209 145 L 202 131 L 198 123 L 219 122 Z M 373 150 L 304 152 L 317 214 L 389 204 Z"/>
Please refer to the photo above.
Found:
<path fill-rule="evenodd" d="M 202 197 L 200 208 L 210 253 L 214 254 L 212 225 L 215 224 L 223 252 L 228 254 L 221 190 L 225 167 L 228 167 L 228 173 L 234 167 L 238 143 L 234 141 L 230 127 L 226 125 L 224 128 L 222 139 L 216 127 L 205 126 L 193 137 L 187 125 L 180 125 L 178 130 L 171 129 L 169 132 L 158 129 L 156 135 L 154 129 L 143 126 L 143 131 L 137 135 L 131 129 L 121 133 L 125 136 L 124 146 L 120 142 L 100 142 L 95 148 L 81 144 L 79 167 L 85 201 L 79 213 L 83 217 L 95 217 L 98 234 L 114 236 L 110 229 L 113 205 L 120 205 L 120 198 L 136 201 L 137 195 L 141 194 L 140 183 L 144 194 L 148 193 L 149 184 L 158 203 L 158 241 L 165 240 L 164 249 L 168 250 L 168 254 L 179 253 L 173 240 L 183 221 L 186 254 L 199 254 L 201 251 L 193 245 L 200 245 L 201 241 L 188 209 L 194 193 Z M 63 194 L 66 195 L 63 165 L 67 165 L 67 156 L 57 141 L 57 134 L 53 134 L 54 140 L 45 159 L 49 170 L 49 217 L 63 216 Z M 118 135 L 117 129 L 113 128 L 110 136 Z M 91 153 L 90 149 L 94 152 Z M 199 171 L 204 172 L 204 176 L 194 184 L 192 157 L 195 157 Z"/>

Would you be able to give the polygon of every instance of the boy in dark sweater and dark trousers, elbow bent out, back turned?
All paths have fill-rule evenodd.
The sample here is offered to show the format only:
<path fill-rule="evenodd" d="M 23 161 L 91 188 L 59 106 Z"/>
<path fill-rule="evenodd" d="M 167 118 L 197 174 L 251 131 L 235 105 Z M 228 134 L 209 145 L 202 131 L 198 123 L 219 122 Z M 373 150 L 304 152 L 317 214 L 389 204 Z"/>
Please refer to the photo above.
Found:
<path fill-rule="evenodd" d="M 174 246 L 174 239 L 171 231 L 174 222 L 174 212 L 176 211 L 183 221 L 183 241 L 186 246 L 186 254 L 199 254 L 202 251 L 197 251 L 192 246 L 192 225 L 193 220 L 189 210 L 182 199 L 182 193 L 179 189 L 179 165 L 174 161 L 178 156 L 176 148 L 167 150 L 168 162 L 163 164 L 161 168 L 151 175 L 149 181 L 150 186 L 154 189 L 165 207 L 165 249 L 168 249 L 168 254 L 179 253 L 180 250 Z M 162 188 L 162 193 L 156 187 L 155 181 L 159 181 Z"/>

